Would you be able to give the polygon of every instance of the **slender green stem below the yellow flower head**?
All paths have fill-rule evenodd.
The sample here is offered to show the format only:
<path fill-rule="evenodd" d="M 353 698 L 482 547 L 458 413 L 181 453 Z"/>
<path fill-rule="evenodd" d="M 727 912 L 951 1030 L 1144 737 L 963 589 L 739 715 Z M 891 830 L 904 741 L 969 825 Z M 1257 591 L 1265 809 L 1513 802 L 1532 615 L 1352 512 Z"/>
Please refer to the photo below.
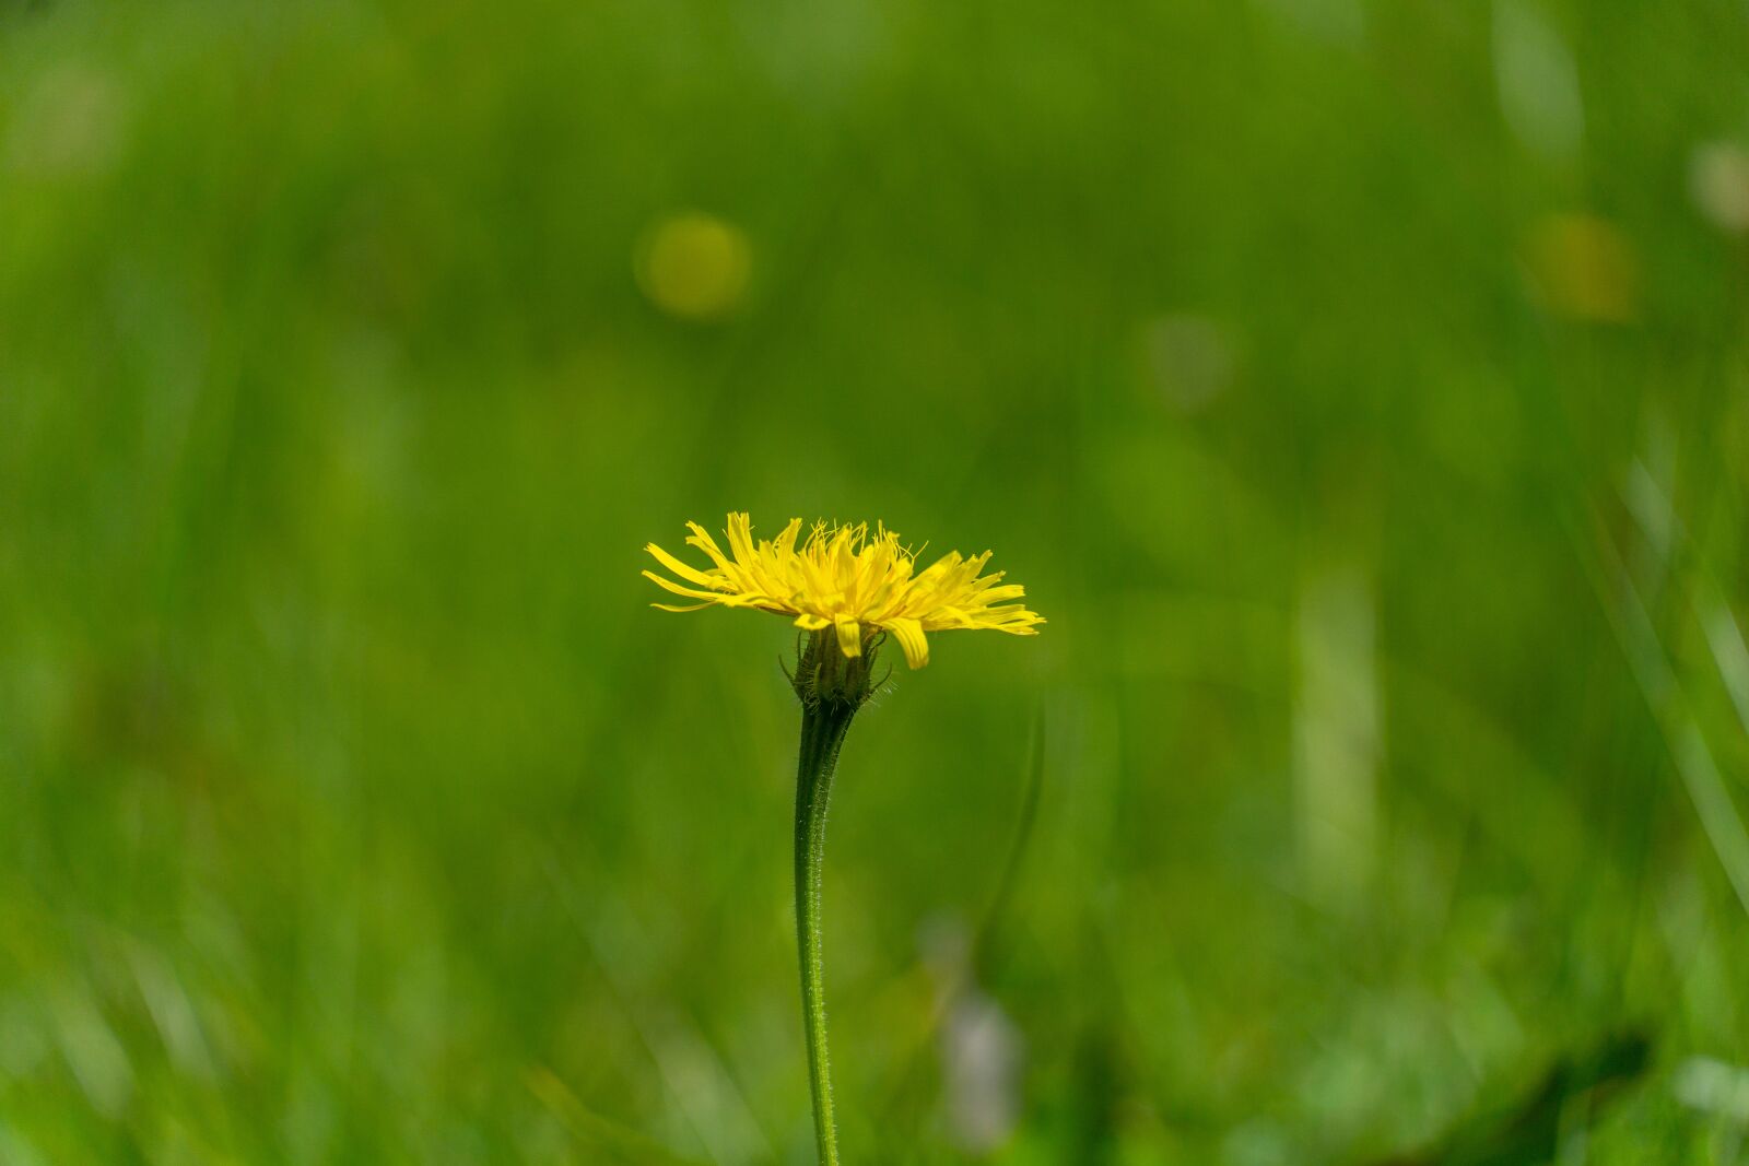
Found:
<path fill-rule="evenodd" d="M 857 706 L 819 699 L 803 704 L 801 757 L 796 764 L 796 947 L 801 956 L 801 1021 L 808 1035 L 808 1087 L 813 1094 L 813 1142 L 820 1166 L 838 1166 L 833 1122 L 833 1066 L 826 1052 L 826 974 L 820 956 L 820 874 L 826 858 L 826 802 L 833 792 L 838 746 Z"/>

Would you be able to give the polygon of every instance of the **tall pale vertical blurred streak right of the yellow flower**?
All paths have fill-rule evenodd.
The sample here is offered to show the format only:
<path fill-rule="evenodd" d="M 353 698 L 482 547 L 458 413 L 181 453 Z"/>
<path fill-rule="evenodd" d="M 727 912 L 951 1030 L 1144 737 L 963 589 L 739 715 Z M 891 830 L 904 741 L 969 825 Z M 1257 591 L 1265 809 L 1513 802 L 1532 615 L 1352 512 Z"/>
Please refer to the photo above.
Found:
<path fill-rule="evenodd" d="M 1373 593 L 1357 566 L 1324 566 L 1300 587 L 1294 785 L 1307 892 L 1345 902 L 1376 850 L 1380 755 Z"/>

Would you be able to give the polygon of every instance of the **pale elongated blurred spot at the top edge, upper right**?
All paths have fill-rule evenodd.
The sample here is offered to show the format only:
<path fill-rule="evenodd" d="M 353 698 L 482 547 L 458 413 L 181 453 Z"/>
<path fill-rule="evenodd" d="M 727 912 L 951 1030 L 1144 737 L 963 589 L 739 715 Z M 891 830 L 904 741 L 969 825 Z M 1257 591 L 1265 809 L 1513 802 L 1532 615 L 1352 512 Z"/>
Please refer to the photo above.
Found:
<path fill-rule="evenodd" d="M 1506 124 L 1532 152 L 1571 163 L 1585 138 L 1579 70 L 1529 0 L 1495 0 L 1494 72 Z"/>

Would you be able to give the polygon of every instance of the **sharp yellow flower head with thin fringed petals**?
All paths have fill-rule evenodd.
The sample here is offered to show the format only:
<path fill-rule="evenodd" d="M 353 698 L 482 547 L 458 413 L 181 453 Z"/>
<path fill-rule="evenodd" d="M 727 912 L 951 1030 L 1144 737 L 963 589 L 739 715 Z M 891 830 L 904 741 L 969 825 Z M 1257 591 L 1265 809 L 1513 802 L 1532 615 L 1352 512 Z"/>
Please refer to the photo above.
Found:
<path fill-rule="evenodd" d="M 1018 600 L 1016 584 L 999 586 L 1002 572 L 981 575 L 990 552 L 962 558 L 958 551 L 916 572 L 916 558 L 899 545 L 899 535 L 866 523 L 829 526 L 815 523 L 798 547 L 801 519 L 791 519 L 775 540 L 754 544 L 752 523 L 731 514 L 729 554 L 698 523 L 687 523 L 686 540 L 710 556 L 712 570 L 698 570 L 673 558 L 654 542 L 644 547 L 686 584 L 644 572 L 658 586 L 689 600 L 686 607 L 654 603 L 665 612 L 696 612 L 701 607 L 752 607 L 775 615 L 794 615 L 805 631 L 838 631 L 847 657 L 862 656 L 876 631 L 890 631 L 911 668 L 929 663 L 925 631 L 988 628 L 1016 636 L 1034 636 L 1044 621 Z M 916 573 L 913 573 L 916 572 Z"/>

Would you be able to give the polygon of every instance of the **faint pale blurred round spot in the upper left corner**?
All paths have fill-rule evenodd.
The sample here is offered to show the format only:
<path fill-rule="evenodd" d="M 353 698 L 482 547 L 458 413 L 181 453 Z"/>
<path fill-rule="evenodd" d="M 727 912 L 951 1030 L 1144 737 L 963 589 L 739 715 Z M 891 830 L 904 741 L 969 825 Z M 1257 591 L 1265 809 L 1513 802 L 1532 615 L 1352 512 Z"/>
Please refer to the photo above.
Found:
<path fill-rule="evenodd" d="M 122 98 L 105 73 L 61 65 L 44 73 L 19 101 L 5 140 L 5 161 L 37 177 L 77 178 L 110 166 L 122 145 Z"/>

